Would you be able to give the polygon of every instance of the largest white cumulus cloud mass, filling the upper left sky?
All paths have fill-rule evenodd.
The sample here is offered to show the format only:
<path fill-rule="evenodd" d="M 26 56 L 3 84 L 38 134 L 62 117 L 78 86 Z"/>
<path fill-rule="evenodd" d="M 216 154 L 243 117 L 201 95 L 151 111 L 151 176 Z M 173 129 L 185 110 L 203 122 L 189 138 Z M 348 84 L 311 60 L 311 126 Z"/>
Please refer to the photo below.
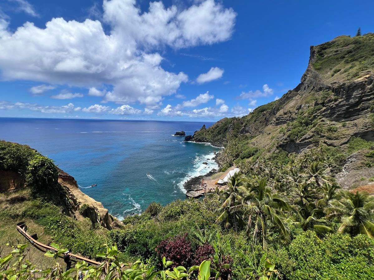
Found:
<path fill-rule="evenodd" d="M 45 28 L 26 22 L 13 32 L 1 19 L 0 78 L 95 89 L 111 85 L 104 101 L 159 106 L 188 77 L 163 69 L 158 50 L 229 40 L 236 18 L 233 9 L 214 0 L 184 9 L 150 2 L 145 12 L 135 0 L 104 0 L 103 11 L 106 32 L 98 20 L 63 18 L 51 19 Z"/>

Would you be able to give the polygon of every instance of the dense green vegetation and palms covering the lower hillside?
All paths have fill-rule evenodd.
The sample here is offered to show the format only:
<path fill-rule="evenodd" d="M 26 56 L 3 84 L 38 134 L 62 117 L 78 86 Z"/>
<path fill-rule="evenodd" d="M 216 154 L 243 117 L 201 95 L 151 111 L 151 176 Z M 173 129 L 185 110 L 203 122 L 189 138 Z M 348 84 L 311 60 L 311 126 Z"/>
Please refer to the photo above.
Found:
<path fill-rule="evenodd" d="M 354 140 L 350 146 L 366 149 L 368 145 Z M 80 223 L 59 214 L 58 207 L 48 202 L 29 202 L 30 208 L 21 215 L 32 218 L 56 243 L 73 252 L 103 260 L 102 244 L 115 246 L 115 260 L 109 261 L 128 262 L 128 267 L 135 265 L 134 271 L 143 269 L 144 279 L 152 279 L 145 276 L 145 263 L 161 273 L 157 271 L 166 269 L 162 259 L 172 262 L 168 274 L 188 274 L 190 267 L 197 270 L 207 260 L 211 276 L 220 279 L 259 279 L 263 275 L 274 279 L 371 279 L 374 199 L 340 190 L 330 176 L 328 157 L 322 149 L 291 156 L 287 164 L 247 163 L 245 174 L 233 176 L 226 190 L 165 207 L 151 203 L 144 213 L 127 217 L 122 228 L 110 231 L 83 230 Z M 10 208 L 4 211 L 0 211 L 2 218 L 22 218 Z M 77 270 L 93 273 L 83 265 L 71 274 Z M 188 277 L 194 279 L 196 273 L 190 272 Z"/>

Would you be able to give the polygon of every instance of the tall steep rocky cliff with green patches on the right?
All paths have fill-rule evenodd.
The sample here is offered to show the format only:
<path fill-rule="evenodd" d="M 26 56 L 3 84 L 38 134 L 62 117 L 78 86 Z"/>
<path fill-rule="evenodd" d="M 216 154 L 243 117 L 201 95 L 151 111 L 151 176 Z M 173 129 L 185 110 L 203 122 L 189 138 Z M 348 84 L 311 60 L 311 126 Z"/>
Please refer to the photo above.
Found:
<path fill-rule="evenodd" d="M 340 36 L 310 47 L 309 65 L 293 90 L 242 118 L 203 127 L 190 141 L 225 145 L 241 136 L 266 154 L 344 146 L 352 136 L 373 140 L 373 81 L 374 34 Z"/>

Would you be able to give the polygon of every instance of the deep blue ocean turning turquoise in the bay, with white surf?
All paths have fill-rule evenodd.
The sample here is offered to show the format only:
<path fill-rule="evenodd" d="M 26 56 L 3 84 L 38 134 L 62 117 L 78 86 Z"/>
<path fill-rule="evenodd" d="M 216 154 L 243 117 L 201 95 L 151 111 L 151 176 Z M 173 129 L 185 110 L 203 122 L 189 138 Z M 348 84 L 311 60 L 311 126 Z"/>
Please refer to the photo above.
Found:
<path fill-rule="evenodd" d="M 156 201 L 184 199 L 183 183 L 217 164 L 218 148 L 185 143 L 210 122 L 0 118 L 0 139 L 28 144 L 73 176 L 80 189 L 118 218 Z M 209 159 L 209 160 L 207 160 Z M 208 165 L 202 162 L 208 162 Z M 147 172 L 151 176 L 147 176 Z M 95 187 L 88 187 L 97 184 Z"/>

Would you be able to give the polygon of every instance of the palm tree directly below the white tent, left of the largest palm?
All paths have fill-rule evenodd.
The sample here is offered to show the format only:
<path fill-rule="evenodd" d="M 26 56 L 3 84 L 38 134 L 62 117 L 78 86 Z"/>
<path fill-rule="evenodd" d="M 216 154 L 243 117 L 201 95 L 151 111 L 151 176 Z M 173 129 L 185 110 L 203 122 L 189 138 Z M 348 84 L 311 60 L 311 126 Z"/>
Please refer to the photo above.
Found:
<path fill-rule="evenodd" d="M 234 206 L 242 204 L 242 183 L 243 175 L 239 172 L 229 178 L 226 189 L 220 192 L 221 206 L 216 210 L 219 215 L 216 222 L 224 222 L 225 228 L 229 228 L 233 222 L 235 231 L 237 231 L 237 220 L 240 217 Z"/>

